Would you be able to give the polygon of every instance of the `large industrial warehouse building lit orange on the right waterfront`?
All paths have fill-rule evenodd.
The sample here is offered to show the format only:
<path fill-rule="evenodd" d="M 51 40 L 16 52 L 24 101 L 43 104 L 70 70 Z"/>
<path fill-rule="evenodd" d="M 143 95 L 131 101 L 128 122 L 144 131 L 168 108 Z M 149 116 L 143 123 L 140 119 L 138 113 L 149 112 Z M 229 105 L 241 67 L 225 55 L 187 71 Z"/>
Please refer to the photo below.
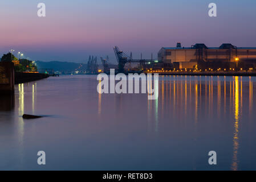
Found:
<path fill-rule="evenodd" d="M 206 47 L 195 44 L 191 47 L 162 47 L 158 59 L 165 64 L 176 64 L 178 68 L 193 68 L 198 61 L 246 61 L 256 64 L 256 47 L 236 47 L 222 44 L 220 47 Z"/>

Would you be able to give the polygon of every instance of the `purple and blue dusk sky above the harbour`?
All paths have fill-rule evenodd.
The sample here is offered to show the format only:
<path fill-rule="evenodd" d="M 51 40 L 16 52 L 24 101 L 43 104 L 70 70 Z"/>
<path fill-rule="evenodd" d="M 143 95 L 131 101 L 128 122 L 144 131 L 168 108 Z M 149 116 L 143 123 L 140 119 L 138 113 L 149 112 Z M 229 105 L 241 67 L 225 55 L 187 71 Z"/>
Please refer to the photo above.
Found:
<path fill-rule="evenodd" d="M 46 17 L 37 16 L 40 2 Z M 211 2 L 217 17 L 208 16 Z M 109 55 L 116 63 L 113 46 L 145 59 L 176 42 L 256 47 L 255 0 L 1 0 L 0 8 L 1 56 L 13 48 L 31 60 L 86 63 L 89 55 Z"/>

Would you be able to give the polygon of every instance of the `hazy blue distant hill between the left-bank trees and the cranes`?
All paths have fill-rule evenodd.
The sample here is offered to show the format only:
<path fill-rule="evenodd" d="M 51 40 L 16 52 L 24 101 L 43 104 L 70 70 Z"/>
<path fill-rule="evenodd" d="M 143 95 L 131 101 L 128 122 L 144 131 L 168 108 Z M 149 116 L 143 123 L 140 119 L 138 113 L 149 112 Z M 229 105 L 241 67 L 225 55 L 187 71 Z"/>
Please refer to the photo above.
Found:
<path fill-rule="evenodd" d="M 87 64 L 84 63 L 72 63 L 72 62 L 62 62 L 62 61 L 36 61 L 36 67 L 38 69 L 54 69 L 54 71 L 59 72 L 72 72 L 79 70 L 86 70 Z"/>

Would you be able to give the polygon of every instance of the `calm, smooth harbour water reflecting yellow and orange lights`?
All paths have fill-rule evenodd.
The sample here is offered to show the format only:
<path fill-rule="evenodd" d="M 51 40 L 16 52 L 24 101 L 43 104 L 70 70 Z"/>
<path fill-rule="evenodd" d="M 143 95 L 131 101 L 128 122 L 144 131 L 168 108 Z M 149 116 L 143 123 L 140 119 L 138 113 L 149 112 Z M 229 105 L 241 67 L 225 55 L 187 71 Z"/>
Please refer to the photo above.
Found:
<path fill-rule="evenodd" d="M 14 98 L 0 98 L 0 169 L 255 170 L 255 81 L 163 76 L 158 100 L 100 95 L 96 76 L 16 85 Z"/>

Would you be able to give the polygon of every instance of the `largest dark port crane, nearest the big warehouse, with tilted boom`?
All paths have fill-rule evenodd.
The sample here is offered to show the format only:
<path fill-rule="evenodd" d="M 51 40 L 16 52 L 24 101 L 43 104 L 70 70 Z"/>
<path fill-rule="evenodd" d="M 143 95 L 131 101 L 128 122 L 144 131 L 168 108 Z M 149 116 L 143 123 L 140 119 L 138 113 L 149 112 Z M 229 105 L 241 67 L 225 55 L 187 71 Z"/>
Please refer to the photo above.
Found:
<path fill-rule="evenodd" d="M 117 46 L 115 46 L 113 49 L 116 55 L 119 73 L 124 72 L 124 66 L 126 63 L 140 63 L 140 65 L 144 65 L 145 63 L 148 63 L 148 64 L 155 63 L 155 60 L 153 60 L 152 55 L 151 55 L 151 59 L 142 59 L 142 55 L 140 59 L 132 59 L 132 53 L 130 56 L 128 56 L 123 51 L 120 51 L 119 47 Z"/>

